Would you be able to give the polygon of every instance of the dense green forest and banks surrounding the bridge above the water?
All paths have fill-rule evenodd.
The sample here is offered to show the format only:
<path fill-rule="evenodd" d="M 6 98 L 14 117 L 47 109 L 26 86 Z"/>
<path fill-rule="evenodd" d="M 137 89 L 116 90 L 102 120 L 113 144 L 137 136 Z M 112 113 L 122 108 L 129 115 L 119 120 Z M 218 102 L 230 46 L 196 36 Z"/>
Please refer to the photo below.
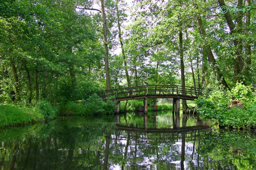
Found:
<path fill-rule="evenodd" d="M 255 0 L 0 0 L 0 127 L 111 115 L 115 102 L 87 93 L 138 85 L 204 88 L 200 117 L 255 127 L 255 9 Z"/>

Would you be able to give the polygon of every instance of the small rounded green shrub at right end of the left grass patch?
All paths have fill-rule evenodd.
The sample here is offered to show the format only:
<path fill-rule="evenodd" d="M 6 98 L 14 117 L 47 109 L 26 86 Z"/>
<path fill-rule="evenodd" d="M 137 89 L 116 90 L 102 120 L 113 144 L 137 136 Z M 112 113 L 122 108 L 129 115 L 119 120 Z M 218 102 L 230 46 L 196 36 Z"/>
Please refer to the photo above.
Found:
<path fill-rule="evenodd" d="M 56 115 L 56 110 L 51 106 L 49 101 L 40 100 L 36 103 L 36 108 L 38 112 L 44 115 L 45 119 L 53 119 Z"/>

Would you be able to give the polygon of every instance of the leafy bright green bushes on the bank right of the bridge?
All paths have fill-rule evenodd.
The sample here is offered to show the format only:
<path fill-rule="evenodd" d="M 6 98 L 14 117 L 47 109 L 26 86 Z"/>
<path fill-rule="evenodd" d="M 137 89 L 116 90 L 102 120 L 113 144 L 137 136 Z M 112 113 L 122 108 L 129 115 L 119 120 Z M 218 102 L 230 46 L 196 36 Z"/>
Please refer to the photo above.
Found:
<path fill-rule="evenodd" d="M 232 100 L 242 104 L 230 106 Z M 210 89 L 196 102 L 200 119 L 211 119 L 220 127 L 256 127 L 256 94 L 252 86 L 237 83 L 231 91 Z"/>

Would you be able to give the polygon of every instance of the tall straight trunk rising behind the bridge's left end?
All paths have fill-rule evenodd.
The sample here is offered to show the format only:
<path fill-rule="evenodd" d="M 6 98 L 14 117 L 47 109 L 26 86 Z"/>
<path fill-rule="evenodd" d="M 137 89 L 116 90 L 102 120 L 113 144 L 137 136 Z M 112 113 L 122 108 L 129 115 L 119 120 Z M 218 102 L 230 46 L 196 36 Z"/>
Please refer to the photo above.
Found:
<path fill-rule="evenodd" d="M 108 65 L 108 41 L 107 41 L 107 20 L 104 8 L 104 0 L 100 0 L 101 2 L 101 13 L 103 18 L 103 41 L 104 41 L 104 51 L 105 51 L 105 72 L 106 72 L 106 85 L 107 90 L 110 90 L 110 76 L 109 76 L 109 65 Z"/>

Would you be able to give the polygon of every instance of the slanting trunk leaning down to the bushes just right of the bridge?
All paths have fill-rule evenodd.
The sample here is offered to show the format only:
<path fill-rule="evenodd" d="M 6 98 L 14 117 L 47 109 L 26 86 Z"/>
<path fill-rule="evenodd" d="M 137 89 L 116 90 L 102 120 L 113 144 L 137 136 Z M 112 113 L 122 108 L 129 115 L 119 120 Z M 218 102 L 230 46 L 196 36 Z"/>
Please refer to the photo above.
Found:
<path fill-rule="evenodd" d="M 202 23 L 202 19 L 201 19 L 201 16 L 198 16 L 197 18 L 197 24 L 199 26 L 199 32 L 202 36 L 205 36 L 205 30 L 204 30 L 204 26 L 203 26 L 203 23 Z M 205 42 L 205 44 L 207 44 Z M 204 46 L 205 50 L 206 50 L 206 54 L 208 56 L 208 60 L 209 62 L 212 64 L 212 68 L 217 76 L 217 79 L 218 81 L 220 81 L 220 83 L 226 88 L 229 90 L 229 87 L 228 87 L 228 84 L 225 80 L 225 78 L 222 76 L 221 72 L 220 72 L 220 68 L 217 66 L 216 64 L 216 60 L 212 54 L 212 49 L 210 47 L 210 45 L 205 45 Z"/>

